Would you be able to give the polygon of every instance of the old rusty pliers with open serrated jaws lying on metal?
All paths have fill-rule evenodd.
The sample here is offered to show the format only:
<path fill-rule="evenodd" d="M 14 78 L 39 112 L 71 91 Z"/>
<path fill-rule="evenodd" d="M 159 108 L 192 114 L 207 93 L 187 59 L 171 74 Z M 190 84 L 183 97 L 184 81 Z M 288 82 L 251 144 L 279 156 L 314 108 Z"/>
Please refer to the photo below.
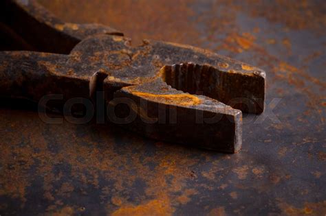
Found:
<path fill-rule="evenodd" d="M 153 139 L 230 153 L 241 148 L 241 110 L 263 112 L 265 72 L 257 67 L 187 45 L 144 40 L 131 47 L 111 28 L 112 34 L 102 34 L 104 27 L 84 34 L 77 25 L 58 27 L 53 18 L 46 20 L 50 15 L 36 16 L 47 13 L 34 1 L 6 2 L 35 17 L 34 25 L 56 32 L 50 40 L 58 47 L 45 41 L 46 49 L 37 50 L 59 53 L 2 51 L 1 97 L 40 101 L 61 94 L 61 101 L 47 103 L 59 108 L 72 98 L 94 99 L 100 91 L 113 123 Z M 76 40 L 60 49 L 66 36 Z"/>

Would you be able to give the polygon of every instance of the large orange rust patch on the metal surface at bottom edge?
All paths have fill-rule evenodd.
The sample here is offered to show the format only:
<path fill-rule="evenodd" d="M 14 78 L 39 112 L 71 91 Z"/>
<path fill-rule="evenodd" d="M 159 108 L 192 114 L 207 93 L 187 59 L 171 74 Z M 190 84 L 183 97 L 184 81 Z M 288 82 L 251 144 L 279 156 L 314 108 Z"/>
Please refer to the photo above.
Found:
<path fill-rule="evenodd" d="M 171 215 L 172 209 L 168 203 L 163 200 L 151 200 L 146 204 L 139 206 L 126 206 L 113 212 L 113 216 L 120 215 Z"/>

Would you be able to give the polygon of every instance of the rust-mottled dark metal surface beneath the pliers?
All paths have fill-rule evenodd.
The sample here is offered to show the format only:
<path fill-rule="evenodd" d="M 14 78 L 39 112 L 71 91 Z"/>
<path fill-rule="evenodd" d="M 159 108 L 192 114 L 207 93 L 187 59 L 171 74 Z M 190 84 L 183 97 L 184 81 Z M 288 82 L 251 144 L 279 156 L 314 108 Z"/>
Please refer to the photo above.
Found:
<path fill-rule="evenodd" d="M 27 101 L 1 101 L 1 215 L 325 215 L 325 1 L 40 3 L 134 44 L 168 40 L 257 65 L 267 106 L 243 114 L 243 148 L 230 155 L 115 125 L 46 124 L 19 108 Z"/>

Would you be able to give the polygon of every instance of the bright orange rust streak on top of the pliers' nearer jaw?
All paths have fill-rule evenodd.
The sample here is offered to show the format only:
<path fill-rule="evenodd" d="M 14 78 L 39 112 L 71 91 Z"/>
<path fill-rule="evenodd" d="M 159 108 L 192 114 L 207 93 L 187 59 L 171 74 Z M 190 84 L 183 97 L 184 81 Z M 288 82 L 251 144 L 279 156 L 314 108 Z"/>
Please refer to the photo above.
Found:
<path fill-rule="evenodd" d="M 176 104 L 180 106 L 193 106 L 202 101 L 195 95 L 177 94 L 177 95 L 155 95 L 151 93 L 133 92 L 138 97 L 144 97 L 165 104 Z"/>

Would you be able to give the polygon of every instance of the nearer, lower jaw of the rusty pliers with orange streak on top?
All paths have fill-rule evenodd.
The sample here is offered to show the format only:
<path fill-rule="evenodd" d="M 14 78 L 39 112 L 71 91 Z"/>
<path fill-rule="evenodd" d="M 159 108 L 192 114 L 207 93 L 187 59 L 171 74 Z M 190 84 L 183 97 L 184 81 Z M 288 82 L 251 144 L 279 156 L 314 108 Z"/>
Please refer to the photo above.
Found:
<path fill-rule="evenodd" d="M 109 107 L 113 123 L 153 139 L 227 153 L 241 148 L 240 110 L 177 91 L 160 79 L 120 89 Z"/>

